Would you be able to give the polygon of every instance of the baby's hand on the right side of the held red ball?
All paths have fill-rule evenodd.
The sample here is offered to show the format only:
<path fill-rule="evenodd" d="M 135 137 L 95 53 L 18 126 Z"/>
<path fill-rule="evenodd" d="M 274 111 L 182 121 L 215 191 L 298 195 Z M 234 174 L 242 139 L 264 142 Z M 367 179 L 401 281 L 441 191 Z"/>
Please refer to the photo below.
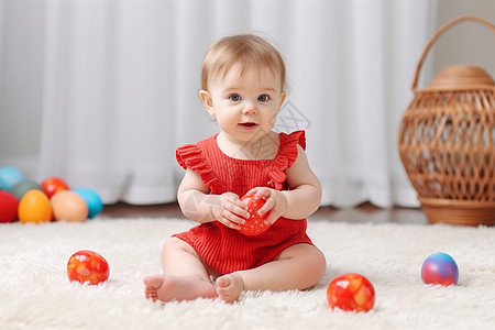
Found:
<path fill-rule="evenodd" d="M 263 216 L 270 211 L 270 216 L 265 219 L 265 223 L 268 226 L 272 226 L 287 210 L 287 198 L 282 191 L 266 187 L 255 187 L 245 195 L 253 195 L 265 200 L 265 205 L 257 213 Z"/>

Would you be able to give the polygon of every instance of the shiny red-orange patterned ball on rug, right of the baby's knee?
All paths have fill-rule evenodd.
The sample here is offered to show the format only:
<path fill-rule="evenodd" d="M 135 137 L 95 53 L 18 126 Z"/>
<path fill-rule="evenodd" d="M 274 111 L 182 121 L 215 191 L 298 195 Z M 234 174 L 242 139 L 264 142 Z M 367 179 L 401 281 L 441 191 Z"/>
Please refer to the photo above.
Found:
<path fill-rule="evenodd" d="M 375 305 L 375 288 L 360 274 L 336 277 L 327 288 L 327 301 L 331 308 L 345 311 L 369 311 Z"/>

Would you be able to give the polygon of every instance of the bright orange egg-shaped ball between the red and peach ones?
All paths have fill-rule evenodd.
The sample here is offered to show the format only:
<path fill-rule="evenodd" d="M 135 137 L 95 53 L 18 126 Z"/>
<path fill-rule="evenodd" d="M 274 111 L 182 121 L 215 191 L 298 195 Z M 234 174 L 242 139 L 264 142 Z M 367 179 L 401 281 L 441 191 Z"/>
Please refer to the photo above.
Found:
<path fill-rule="evenodd" d="M 29 190 L 19 202 L 18 217 L 22 223 L 50 222 L 52 221 L 52 216 L 48 197 L 41 190 Z"/>

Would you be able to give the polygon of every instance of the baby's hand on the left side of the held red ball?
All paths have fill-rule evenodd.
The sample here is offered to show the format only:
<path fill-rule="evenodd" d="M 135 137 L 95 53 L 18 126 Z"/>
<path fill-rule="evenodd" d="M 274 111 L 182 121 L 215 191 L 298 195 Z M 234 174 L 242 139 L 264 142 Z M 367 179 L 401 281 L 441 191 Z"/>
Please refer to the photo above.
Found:
<path fill-rule="evenodd" d="M 217 221 L 232 229 L 241 229 L 239 224 L 244 224 L 245 219 L 250 217 L 248 206 L 233 193 L 224 193 L 218 197 L 221 207 L 215 210 Z"/>

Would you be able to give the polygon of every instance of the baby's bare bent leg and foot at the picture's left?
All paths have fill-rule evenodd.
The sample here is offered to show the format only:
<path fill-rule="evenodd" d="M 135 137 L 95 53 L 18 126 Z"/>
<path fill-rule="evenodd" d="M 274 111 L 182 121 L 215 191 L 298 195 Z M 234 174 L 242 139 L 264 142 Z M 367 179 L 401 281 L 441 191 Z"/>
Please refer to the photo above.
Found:
<path fill-rule="evenodd" d="M 215 298 L 206 265 L 186 242 L 172 238 L 162 248 L 163 274 L 146 276 L 144 295 L 162 301 Z"/>

